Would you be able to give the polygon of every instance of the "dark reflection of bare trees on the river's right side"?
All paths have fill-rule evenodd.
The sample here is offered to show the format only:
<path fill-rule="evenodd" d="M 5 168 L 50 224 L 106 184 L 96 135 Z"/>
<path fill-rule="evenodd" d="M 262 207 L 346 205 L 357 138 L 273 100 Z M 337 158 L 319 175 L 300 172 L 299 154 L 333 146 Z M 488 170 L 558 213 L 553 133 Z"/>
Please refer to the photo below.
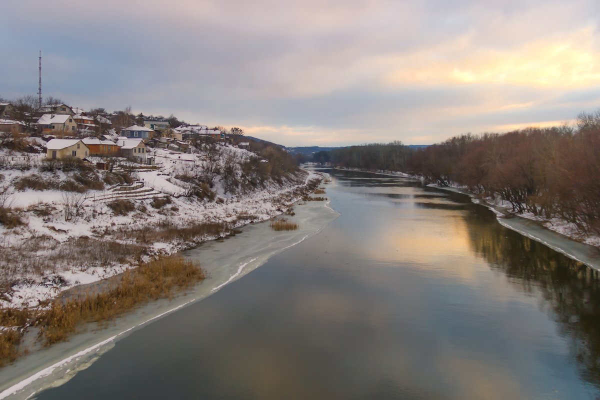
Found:
<path fill-rule="evenodd" d="M 469 240 L 493 269 L 525 293 L 541 293 L 542 309 L 568 338 L 581 374 L 600 387 L 600 272 L 497 224 L 475 207 L 464 215 Z"/>

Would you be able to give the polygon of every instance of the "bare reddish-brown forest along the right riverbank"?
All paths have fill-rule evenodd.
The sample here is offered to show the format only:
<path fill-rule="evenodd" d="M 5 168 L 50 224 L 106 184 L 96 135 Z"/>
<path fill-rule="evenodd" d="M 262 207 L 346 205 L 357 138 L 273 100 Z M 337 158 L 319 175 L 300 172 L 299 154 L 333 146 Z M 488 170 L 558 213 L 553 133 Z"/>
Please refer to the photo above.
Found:
<path fill-rule="evenodd" d="M 574 126 L 455 136 L 410 149 L 400 142 L 336 149 L 339 167 L 390 170 L 460 186 L 511 204 L 517 213 L 571 222 L 600 234 L 600 110 Z"/>

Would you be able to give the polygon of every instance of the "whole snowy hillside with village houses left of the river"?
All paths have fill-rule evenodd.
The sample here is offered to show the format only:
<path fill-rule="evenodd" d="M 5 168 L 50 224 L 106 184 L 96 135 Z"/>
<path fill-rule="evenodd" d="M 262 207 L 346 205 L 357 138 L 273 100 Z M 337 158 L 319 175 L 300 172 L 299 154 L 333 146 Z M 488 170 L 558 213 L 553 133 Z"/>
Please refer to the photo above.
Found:
<path fill-rule="evenodd" d="M 0 307 L 40 306 L 233 234 L 289 211 L 321 179 L 239 128 L 24 108 L 0 103 Z"/>

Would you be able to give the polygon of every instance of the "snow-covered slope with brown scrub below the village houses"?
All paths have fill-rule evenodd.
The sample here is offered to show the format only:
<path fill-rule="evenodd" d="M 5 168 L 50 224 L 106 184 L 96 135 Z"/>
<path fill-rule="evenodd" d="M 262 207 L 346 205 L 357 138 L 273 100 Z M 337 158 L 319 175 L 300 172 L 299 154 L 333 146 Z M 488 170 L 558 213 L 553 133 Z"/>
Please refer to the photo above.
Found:
<path fill-rule="evenodd" d="M 232 146 L 211 151 L 182 154 L 157 149 L 157 167 L 128 172 L 133 184 L 85 193 L 49 189 L 52 185 L 47 184 L 64 185 L 81 178 L 83 172 L 48 171 L 43 154 L 31 155 L 26 165 L 10 156 L 16 160 L 0 170 L 0 189 L 22 224 L 0 225 L 0 247 L 6 255 L 0 260 L 6 282 L 0 307 L 36 307 L 70 288 L 118 275 L 140 261 L 175 254 L 250 222 L 272 218 L 321 179 L 317 173 L 299 170 L 278 181 L 265 179 L 256 187 L 232 190 L 223 172 L 227 160 L 235 161 L 230 162 L 233 176 L 241 180 L 242 166 L 256 155 Z M 109 175 L 85 173 L 97 179 L 104 173 L 105 181 Z M 203 193 L 199 197 L 196 193 L 205 187 L 194 181 L 209 173 L 214 185 L 206 196 L 212 199 L 202 197 Z M 22 188 L 24 182 L 43 189 Z M 73 215 L 67 218 L 67 212 Z"/>

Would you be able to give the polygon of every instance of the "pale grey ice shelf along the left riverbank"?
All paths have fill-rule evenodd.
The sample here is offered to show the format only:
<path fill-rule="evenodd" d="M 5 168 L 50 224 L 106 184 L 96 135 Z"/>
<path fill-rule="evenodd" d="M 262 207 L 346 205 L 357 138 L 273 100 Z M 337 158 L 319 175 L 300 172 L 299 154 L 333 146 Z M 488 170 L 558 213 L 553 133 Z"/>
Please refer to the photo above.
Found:
<path fill-rule="evenodd" d="M 241 233 L 226 240 L 211 240 L 182 252 L 184 257 L 198 261 L 206 270 L 205 281 L 174 299 L 141 306 L 103 329 L 94 329 L 95 324 L 91 323 L 88 329 L 67 342 L 26 354 L 2 369 L 0 399 L 25 399 L 41 389 L 67 381 L 133 330 L 215 293 L 273 255 L 318 233 L 339 215 L 329 207 L 328 201 L 299 201 L 294 204 L 294 210 L 295 215 L 286 215 L 286 218 L 298 224 L 298 230 L 273 231 L 266 221 L 248 224 L 241 228 Z"/>

